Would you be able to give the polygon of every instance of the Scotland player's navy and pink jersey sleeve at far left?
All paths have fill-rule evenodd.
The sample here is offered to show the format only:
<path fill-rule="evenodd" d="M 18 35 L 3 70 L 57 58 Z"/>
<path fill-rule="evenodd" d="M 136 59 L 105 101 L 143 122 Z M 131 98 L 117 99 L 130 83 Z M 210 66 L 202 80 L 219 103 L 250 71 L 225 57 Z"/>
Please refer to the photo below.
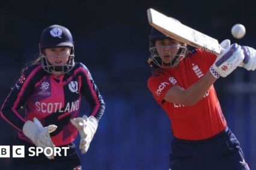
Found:
<path fill-rule="evenodd" d="M 25 68 L 1 108 L 1 117 L 4 118 L 7 123 L 11 124 L 11 126 L 20 131 L 22 131 L 22 127 L 26 120 L 20 114 L 19 110 L 34 90 L 33 81 L 39 67 L 40 66 L 34 69 L 29 69 L 28 67 Z"/>

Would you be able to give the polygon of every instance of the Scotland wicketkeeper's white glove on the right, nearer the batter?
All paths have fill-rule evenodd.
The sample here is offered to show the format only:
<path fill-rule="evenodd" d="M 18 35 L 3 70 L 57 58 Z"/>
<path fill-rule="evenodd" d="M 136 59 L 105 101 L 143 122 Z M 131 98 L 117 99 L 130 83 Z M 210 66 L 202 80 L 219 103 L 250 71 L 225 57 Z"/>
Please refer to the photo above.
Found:
<path fill-rule="evenodd" d="M 84 154 L 89 149 L 90 142 L 92 142 L 93 136 L 98 127 L 98 121 L 95 117 L 90 116 L 87 118 L 86 115 L 83 115 L 83 117 L 73 118 L 70 121 L 73 126 L 78 129 L 81 138 L 79 148 L 81 153 Z"/>

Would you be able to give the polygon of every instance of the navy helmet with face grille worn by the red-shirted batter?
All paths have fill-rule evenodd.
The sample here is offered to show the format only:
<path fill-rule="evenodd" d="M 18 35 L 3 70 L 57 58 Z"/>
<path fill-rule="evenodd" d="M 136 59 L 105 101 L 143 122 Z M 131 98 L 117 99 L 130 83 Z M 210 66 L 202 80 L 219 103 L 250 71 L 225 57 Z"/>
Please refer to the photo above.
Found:
<path fill-rule="evenodd" d="M 151 60 L 154 62 L 155 65 L 158 67 L 176 67 L 178 63 L 186 56 L 187 47 L 186 44 L 181 43 L 179 46 L 167 46 L 169 49 L 172 47 L 178 47 L 178 52 L 176 53 L 175 57 L 169 63 L 165 63 L 162 61 L 161 56 L 157 52 L 157 48 L 155 47 L 155 40 L 163 39 L 163 38 L 170 38 L 167 35 L 157 31 L 157 29 L 152 28 L 151 34 L 149 35 L 149 51 L 151 52 Z M 173 38 L 170 38 L 174 40 Z"/>

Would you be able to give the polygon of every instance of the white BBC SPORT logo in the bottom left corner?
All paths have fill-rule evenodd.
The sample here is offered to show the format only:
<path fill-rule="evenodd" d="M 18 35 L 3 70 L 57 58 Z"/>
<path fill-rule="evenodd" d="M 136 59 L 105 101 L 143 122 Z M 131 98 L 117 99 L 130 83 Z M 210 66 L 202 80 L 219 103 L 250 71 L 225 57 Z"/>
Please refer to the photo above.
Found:
<path fill-rule="evenodd" d="M 1 157 L 25 157 L 25 146 L 13 145 L 10 150 L 9 145 L 0 145 L 0 158 Z M 28 156 L 34 157 L 39 156 L 39 154 L 45 154 L 45 156 L 67 156 L 67 150 L 69 147 L 29 147 Z M 12 154 L 11 154 L 12 151 Z M 61 155 L 61 151 L 63 155 Z"/>

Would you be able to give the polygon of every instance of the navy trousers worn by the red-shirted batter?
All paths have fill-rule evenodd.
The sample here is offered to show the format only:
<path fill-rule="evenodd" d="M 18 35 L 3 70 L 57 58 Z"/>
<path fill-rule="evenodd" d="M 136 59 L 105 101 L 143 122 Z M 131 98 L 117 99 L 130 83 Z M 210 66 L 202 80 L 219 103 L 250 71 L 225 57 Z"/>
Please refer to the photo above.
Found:
<path fill-rule="evenodd" d="M 171 170 L 249 170 L 236 136 L 226 129 L 213 138 L 187 141 L 174 138 Z"/>

